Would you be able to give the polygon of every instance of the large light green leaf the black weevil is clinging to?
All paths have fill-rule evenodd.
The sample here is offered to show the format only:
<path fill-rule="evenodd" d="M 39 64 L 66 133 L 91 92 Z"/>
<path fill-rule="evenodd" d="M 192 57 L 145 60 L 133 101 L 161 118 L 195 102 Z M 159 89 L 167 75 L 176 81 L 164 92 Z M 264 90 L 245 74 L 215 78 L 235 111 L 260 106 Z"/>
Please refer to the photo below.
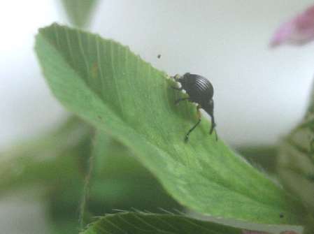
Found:
<path fill-rule="evenodd" d="M 128 47 L 52 24 L 40 30 L 36 52 L 59 101 L 127 145 L 181 204 L 225 218 L 301 223 L 298 201 L 209 136 L 206 120 L 184 142 L 197 122 L 194 105 L 174 105 L 183 94 L 173 81 Z"/>

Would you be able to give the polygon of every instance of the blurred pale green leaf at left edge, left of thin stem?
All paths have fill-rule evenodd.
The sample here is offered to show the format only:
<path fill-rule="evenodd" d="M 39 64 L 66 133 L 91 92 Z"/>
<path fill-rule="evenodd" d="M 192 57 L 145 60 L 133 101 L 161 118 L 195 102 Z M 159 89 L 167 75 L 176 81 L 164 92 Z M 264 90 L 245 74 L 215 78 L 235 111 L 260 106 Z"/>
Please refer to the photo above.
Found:
<path fill-rule="evenodd" d="M 91 135 L 90 126 L 71 117 L 57 131 L 0 153 L 0 195 L 13 188 L 78 177 L 78 159 L 89 151 Z"/>

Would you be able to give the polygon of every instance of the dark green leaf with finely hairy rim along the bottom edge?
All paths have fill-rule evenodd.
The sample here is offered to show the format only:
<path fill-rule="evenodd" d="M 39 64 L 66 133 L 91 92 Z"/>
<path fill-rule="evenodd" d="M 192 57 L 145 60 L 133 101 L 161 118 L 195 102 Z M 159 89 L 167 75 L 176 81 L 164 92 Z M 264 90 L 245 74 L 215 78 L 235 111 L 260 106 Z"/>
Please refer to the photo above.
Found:
<path fill-rule="evenodd" d="M 206 233 L 242 234 L 241 229 L 199 221 L 174 214 L 124 212 L 108 214 L 87 227 L 82 234 L 107 233 Z"/>

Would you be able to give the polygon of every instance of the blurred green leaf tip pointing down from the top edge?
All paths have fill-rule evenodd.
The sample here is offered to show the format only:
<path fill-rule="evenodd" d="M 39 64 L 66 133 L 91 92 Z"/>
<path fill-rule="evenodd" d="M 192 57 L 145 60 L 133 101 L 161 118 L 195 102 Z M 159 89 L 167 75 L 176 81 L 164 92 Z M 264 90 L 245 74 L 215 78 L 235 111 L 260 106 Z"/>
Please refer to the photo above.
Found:
<path fill-rule="evenodd" d="M 62 0 L 62 4 L 71 23 L 76 27 L 85 27 L 98 0 Z"/>

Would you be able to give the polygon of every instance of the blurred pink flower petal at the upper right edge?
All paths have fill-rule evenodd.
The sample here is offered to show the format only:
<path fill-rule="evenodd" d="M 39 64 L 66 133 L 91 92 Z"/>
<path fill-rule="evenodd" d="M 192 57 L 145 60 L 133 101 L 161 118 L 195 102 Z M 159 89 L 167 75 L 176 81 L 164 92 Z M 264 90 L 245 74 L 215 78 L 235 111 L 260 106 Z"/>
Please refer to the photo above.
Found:
<path fill-rule="evenodd" d="M 271 47 L 289 43 L 304 45 L 314 40 L 314 6 L 282 24 L 271 39 Z"/>

